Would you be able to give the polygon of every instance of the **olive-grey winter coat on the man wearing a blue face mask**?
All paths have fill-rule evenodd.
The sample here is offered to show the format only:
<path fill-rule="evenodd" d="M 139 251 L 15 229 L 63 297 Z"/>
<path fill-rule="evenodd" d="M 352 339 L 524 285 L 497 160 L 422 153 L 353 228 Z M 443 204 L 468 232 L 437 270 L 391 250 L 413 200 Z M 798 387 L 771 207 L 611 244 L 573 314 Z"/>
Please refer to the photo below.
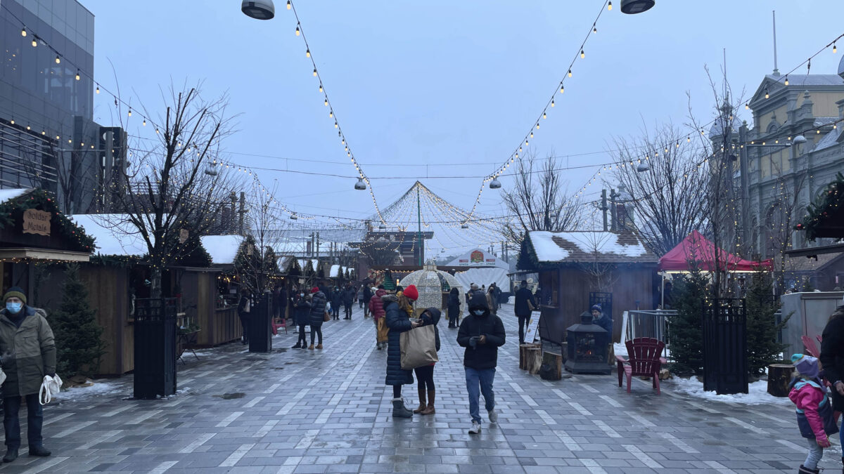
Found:
<path fill-rule="evenodd" d="M 44 375 L 56 373 L 56 343 L 46 313 L 26 305 L 22 311 L 26 317 L 20 327 L 8 319 L 7 310 L 0 311 L 0 353 L 14 353 L 3 360 L 3 396 L 37 394 Z"/>

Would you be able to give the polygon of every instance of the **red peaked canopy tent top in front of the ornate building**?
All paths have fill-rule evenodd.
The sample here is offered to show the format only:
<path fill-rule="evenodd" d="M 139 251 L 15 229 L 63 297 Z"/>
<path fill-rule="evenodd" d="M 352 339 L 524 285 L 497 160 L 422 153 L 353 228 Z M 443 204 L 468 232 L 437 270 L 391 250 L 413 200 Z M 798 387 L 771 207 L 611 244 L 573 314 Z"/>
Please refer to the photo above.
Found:
<path fill-rule="evenodd" d="M 689 271 L 689 261 L 695 260 L 700 262 L 701 270 L 714 272 L 716 256 L 718 269 L 725 272 L 754 272 L 760 268 L 773 269 L 773 262 L 770 259 L 764 261 L 744 260 L 723 249 L 717 249 L 716 253 L 715 244 L 696 230 L 692 230 L 691 234 L 687 235 L 679 245 L 663 255 L 659 259 L 657 269 L 668 272 L 687 272 Z"/>

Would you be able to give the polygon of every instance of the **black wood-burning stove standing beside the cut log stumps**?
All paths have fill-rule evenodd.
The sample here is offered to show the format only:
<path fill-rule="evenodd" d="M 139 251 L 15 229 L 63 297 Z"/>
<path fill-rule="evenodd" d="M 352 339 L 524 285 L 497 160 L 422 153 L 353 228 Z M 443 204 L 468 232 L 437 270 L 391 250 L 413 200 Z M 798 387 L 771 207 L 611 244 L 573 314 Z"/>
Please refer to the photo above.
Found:
<path fill-rule="evenodd" d="M 569 326 L 565 340 L 568 342 L 568 358 L 565 369 L 575 374 L 609 374 L 607 349 L 609 333 L 603 327 L 592 323 L 592 313 L 584 311 L 580 324 Z"/>

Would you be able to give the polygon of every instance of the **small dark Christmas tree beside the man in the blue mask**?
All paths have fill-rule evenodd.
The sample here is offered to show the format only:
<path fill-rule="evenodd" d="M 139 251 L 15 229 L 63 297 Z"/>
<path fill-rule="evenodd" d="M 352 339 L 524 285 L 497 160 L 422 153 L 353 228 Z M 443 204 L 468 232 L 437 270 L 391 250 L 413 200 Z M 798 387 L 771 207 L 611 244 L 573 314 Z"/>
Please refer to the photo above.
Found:
<path fill-rule="evenodd" d="M 56 337 L 57 373 L 65 378 L 93 375 L 100 369 L 106 343 L 96 310 L 88 303 L 88 288 L 79 280 L 78 265 L 68 265 L 62 285 L 62 305 L 48 316 Z"/>

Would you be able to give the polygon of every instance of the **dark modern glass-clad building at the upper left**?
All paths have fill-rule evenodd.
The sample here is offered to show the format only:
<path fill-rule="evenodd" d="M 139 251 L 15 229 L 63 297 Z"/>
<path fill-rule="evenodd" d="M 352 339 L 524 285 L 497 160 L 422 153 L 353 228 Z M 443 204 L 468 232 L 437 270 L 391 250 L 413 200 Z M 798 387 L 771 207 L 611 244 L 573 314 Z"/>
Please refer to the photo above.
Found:
<path fill-rule="evenodd" d="M 0 0 L 0 55 L 0 187 L 47 189 L 67 213 L 100 210 L 119 161 L 105 150 L 125 134 L 93 121 L 94 15 L 77 0 Z"/>

